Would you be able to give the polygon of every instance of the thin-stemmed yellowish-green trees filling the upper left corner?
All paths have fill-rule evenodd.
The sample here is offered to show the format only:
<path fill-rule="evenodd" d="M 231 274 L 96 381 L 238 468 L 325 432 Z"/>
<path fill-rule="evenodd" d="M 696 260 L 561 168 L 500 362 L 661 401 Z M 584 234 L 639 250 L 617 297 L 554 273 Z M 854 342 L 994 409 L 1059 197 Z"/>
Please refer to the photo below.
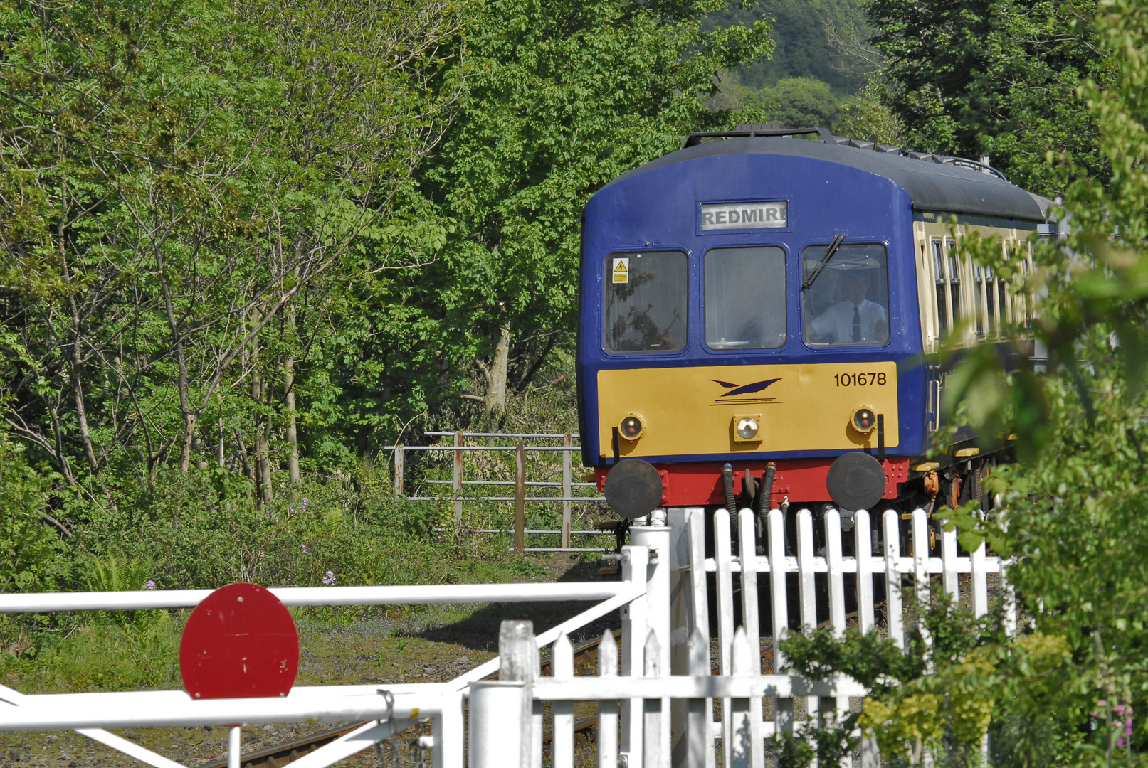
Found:
<path fill-rule="evenodd" d="M 326 285 L 355 279 L 457 99 L 459 18 L 452 0 L 0 5 L 13 433 L 110 502 L 121 473 L 205 465 L 226 420 L 270 494 Z"/>

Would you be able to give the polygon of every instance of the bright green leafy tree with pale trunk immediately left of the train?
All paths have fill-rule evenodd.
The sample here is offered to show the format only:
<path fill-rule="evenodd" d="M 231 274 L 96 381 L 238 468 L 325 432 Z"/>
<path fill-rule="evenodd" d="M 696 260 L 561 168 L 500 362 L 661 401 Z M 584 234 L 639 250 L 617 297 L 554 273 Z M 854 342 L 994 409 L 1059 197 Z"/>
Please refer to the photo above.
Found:
<path fill-rule="evenodd" d="M 497 412 L 507 386 L 525 385 L 554 348 L 569 347 L 585 201 L 677 149 L 690 130 L 731 119 L 706 108 L 714 76 L 769 52 L 763 22 L 703 32 L 705 15 L 723 7 L 478 8 L 458 63 L 466 95 L 396 221 L 416 234 L 422 227 L 442 249 L 434 254 L 412 236 L 404 248 L 422 266 L 377 264 L 374 280 L 349 287 L 362 322 L 340 329 L 338 359 L 328 359 L 326 393 L 339 397 L 315 406 L 328 423 L 348 424 L 365 447 L 372 432 L 394 433 L 428 403 L 461 397 Z"/>

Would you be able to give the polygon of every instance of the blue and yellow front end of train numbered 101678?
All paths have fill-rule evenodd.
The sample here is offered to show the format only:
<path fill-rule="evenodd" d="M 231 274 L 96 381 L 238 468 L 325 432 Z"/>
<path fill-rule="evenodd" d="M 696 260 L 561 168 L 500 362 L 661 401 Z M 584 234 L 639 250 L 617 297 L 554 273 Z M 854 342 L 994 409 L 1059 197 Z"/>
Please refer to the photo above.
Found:
<path fill-rule="evenodd" d="M 913 204 L 789 149 L 807 143 L 701 144 L 587 204 L 579 407 L 600 487 L 642 459 L 664 507 L 728 504 L 730 475 L 738 506 L 898 497 L 926 436 Z"/>

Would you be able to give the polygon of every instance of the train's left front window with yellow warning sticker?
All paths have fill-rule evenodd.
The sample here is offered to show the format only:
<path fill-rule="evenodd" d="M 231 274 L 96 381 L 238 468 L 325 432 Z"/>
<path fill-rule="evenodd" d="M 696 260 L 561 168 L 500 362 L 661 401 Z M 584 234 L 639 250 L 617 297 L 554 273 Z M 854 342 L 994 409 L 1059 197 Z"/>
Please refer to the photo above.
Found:
<path fill-rule="evenodd" d="M 676 352 L 685 347 L 685 253 L 611 253 L 605 272 L 603 335 L 608 351 Z"/>

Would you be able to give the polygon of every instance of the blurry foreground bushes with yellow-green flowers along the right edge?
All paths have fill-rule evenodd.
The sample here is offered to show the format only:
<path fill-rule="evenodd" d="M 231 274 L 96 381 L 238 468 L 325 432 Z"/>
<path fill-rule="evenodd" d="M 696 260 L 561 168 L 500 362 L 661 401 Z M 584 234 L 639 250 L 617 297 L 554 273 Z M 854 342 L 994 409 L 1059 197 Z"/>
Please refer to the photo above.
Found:
<path fill-rule="evenodd" d="M 951 378 L 956 413 L 987 446 L 1015 432 L 1018 461 L 988 480 L 999 506 L 944 512 L 965 548 L 987 540 L 1009 569 L 1022 624 L 1007 636 L 995 617 L 974 620 L 936 603 L 922 609 L 932 646 L 917 636 L 908 658 L 878 638 L 816 634 L 788 645 L 799 668 L 843 669 L 878 682 L 860 724 L 883 757 L 920 763 L 999 766 L 1140 765 L 1148 730 L 1145 621 L 1148 497 L 1148 10 L 1101 3 L 1087 37 L 1107 62 L 1076 84 L 1096 126 L 1088 165 L 1056 158 L 1064 189 L 1061 240 L 1033 238 L 1041 296 L 1037 332 L 1050 374 L 1004 373 L 991 348 Z M 1095 169 L 1111 169 L 1111 175 Z M 1019 279 L 999 242 L 961 248 Z M 936 595 L 934 595 L 936 596 Z M 907 599 L 910 599 L 907 597 Z M 913 663 L 916 659 L 916 664 Z M 931 665 L 931 666 L 930 666 Z M 875 675 L 881 675 L 875 676 Z"/>

